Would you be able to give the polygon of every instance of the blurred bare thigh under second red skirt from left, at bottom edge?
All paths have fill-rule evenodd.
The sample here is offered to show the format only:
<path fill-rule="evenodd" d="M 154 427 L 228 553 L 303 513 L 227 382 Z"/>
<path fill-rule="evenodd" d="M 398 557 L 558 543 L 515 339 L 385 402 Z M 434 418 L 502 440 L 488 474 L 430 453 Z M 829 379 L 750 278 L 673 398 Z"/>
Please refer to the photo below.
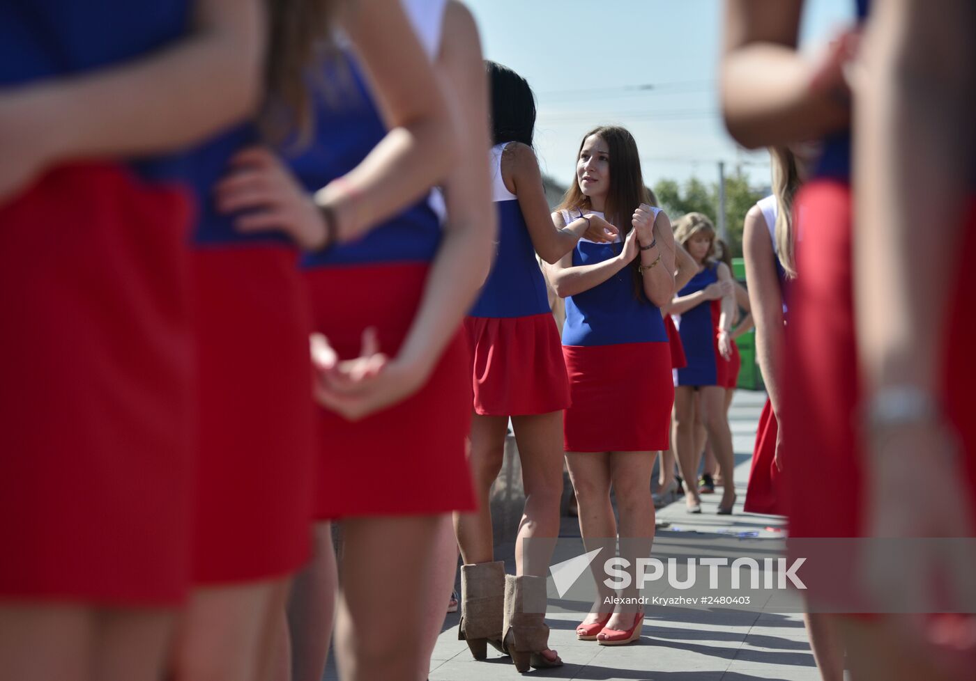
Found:
<path fill-rule="evenodd" d="M 268 632 L 284 607 L 286 584 L 197 589 L 178 624 L 171 661 L 175 681 L 259 679 L 266 672 Z"/>

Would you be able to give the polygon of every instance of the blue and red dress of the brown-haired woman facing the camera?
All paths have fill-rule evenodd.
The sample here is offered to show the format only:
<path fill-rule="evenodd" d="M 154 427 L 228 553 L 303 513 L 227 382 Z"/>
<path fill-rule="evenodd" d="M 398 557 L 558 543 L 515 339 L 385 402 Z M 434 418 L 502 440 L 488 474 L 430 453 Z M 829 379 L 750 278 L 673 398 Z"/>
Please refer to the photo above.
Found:
<path fill-rule="evenodd" d="M 574 217 L 563 211 L 567 223 Z M 612 244 L 581 239 L 573 249 L 573 266 L 609 260 L 621 247 L 619 237 Z M 668 448 L 671 343 L 661 310 L 643 291 L 634 291 L 630 267 L 566 298 L 562 352 L 572 398 L 563 421 L 566 451 Z"/>

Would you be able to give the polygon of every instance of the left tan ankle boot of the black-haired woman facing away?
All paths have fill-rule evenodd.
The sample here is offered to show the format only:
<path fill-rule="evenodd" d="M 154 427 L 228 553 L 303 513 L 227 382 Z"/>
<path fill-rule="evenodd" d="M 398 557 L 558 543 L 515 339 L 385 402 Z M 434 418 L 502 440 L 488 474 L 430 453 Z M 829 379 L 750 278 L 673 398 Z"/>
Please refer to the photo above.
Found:
<path fill-rule="evenodd" d="M 488 644 L 499 651 L 505 610 L 505 563 L 461 566 L 461 626 L 458 639 L 468 641 L 475 660 L 488 657 Z"/>

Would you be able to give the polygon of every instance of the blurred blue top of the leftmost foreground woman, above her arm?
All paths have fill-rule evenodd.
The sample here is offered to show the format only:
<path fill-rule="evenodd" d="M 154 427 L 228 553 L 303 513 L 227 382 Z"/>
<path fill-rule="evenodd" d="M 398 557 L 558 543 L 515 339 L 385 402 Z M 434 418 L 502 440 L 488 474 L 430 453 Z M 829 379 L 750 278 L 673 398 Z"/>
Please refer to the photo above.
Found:
<path fill-rule="evenodd" d="M 61 78 L 142 57 L 178 40 L 188 0 L 0 2 L 0 88 Z M 133 164 L 146 179 L 180 175 L 173 160 Z"/>

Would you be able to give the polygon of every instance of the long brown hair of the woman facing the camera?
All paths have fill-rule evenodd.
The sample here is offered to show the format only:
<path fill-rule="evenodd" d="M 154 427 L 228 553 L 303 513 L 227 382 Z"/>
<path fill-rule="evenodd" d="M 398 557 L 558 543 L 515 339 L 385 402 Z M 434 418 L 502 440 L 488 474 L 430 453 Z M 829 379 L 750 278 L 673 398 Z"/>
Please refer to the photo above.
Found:
<path fill-rule="evenodd" d="M 655 206 L 657 201 L 651 191 L 644 186 L 643 175 L 640 172 L 640 155 L 637 153 L 637 142 L 626 128 L 620 126 L 600 126 L 583 135 L 580 148 L 576 152 L 579 160 L 583 145 L 596 135 L 607 143 L 610 157 L 610 189 L 607 191 L 603 213 L 610 224 L 620 230 L 621 245 L 633 229 L 631 215 L 641 204 Z M 580 189 L 578 179 L 573 180 L 562 197 L 562 203 L 556 210 L 591 210 L 590 197 Z M 640 258 L 636 257 L 630 264 L 633 278 L 633 292 L 638 298 L 646 299 L 644 285 L 640 271 Z"/>

